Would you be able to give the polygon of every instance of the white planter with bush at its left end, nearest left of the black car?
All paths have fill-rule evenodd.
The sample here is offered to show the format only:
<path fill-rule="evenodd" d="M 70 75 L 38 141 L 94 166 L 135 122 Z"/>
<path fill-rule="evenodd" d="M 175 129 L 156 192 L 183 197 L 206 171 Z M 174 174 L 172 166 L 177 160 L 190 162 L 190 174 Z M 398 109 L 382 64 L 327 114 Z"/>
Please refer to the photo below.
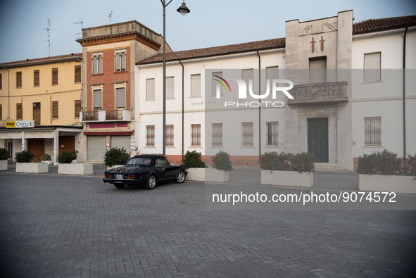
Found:
<path fill-rule="evenodd" d="M 73 163 L 77 159 L 77 153 L 78 151 L 64 151 L 58 156 L 58 174 L 91 175 L 93 173 L 92 164 Z"/>

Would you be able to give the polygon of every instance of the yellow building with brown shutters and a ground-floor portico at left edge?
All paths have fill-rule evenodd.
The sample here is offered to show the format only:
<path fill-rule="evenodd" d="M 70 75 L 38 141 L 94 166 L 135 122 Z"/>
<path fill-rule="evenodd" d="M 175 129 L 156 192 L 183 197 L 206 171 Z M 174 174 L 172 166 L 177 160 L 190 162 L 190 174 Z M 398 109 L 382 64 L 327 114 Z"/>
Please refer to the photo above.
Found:
<path fill-rule="evenodd" d="M 0 147 L 82 160 L 82 53 L 0 64 Z"/>

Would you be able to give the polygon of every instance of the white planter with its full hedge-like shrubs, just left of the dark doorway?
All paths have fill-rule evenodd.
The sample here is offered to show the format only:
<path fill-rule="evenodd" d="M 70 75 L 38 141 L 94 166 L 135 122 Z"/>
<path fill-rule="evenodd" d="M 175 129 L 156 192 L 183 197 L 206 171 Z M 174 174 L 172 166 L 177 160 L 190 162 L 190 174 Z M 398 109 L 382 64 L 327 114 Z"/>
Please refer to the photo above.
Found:
<path fill-rule="evenodd" d="M 313 187 L 312 153 L 264 153 L 260 156 L 261 184 Z"/>

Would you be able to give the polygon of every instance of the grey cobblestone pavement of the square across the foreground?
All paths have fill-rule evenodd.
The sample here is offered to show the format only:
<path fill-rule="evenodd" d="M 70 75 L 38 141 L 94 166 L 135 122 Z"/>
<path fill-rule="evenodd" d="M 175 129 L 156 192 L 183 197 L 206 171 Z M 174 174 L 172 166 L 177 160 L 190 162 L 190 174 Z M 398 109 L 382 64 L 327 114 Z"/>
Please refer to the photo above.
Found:
<path fill-rule="evenodd" d="M 217 209 L 207 189 L 0 173 L 0 277 L 415 277 L 416 210 Z"/>

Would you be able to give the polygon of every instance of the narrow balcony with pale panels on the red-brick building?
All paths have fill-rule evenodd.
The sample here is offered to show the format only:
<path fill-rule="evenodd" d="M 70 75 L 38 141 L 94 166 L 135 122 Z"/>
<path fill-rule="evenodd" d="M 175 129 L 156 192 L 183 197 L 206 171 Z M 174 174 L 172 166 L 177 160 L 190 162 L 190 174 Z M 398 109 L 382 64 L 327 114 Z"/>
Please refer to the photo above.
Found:
<path fill-rule="evenodd" d="M 80 112 L 81 122 L 131 122 L 131 110 L 99 110 Z"/>

